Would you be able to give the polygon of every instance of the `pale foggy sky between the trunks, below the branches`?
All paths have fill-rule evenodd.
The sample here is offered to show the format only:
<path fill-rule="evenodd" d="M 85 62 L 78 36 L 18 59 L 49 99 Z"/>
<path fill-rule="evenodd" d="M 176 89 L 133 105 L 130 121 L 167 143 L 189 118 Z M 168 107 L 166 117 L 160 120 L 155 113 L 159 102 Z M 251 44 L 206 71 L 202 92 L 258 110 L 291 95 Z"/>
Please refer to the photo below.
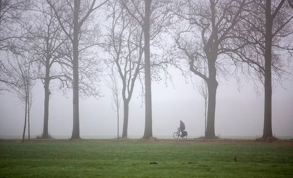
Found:
<path fill-rule="evenodd" d="M 169 135 L 179 127 L 182 120 L 188 135 L 204 135 L 203 98 L 193 89 L 190 78 L 185 79 L 179 71 L 171 70 L 173 84 L 152 83 L 153 135 Z M 199 82 L 193 76 L 193 82 Z M 187 83 L 188 82 L 188 83 Z M 37 82 L 31 110 L 31 135 L 41 135 L 44 114 L 44 88 Z M 80 135 L 113 135 L 117 133 L 116 113 L 111 107 L 111 93 L 101 82 L 104 97 L 80 98 Z M 261 84 L 259 84 L 261 88 Z M 285 87 L 286 90 L 283 88 Z M 276 136 L 293 136 L 293 77 L 278 85 L 273 93 L 272 127 Z M 217 90 L 215 134 L 218 136 L 262 135 L 263 93 L 256 95 L 254 83 L 242 81 L 239 85 L 231 78 L 221 80 Z M 141 136 L 144 131 L 144 105 L 141 103 L 140 83 L 136 82 L 130 101 L 128 136 Z M 0 138 L 5 135 L 22 135 L 24 124 L 23 105 L 11 93 L 0 95 Z M 123 126 L 123 101 L 120 107 L 120 135 Z M 49 134 L 72 133 L 72 91 L 68 97 L 54 91 L 49 103 Z M 27 132 L 26 132 L 27 135 Z M 189 138 L 191 138 L 189 136 Z"/>

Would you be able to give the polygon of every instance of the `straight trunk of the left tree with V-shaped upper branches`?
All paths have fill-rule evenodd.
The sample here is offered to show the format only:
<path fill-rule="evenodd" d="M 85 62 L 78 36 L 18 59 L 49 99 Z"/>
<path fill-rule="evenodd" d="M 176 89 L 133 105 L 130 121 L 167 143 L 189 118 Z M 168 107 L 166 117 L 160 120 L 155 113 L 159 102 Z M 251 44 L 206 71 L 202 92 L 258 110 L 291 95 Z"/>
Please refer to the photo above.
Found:
<path fill-rule="evenodd" d="M 79 35 L 79 5 L 80 1 L 74 0 L 73 17 L 73 129 L 71 139 L 79 136 L 79 94 L 78 94 L 78 35 Z"/>

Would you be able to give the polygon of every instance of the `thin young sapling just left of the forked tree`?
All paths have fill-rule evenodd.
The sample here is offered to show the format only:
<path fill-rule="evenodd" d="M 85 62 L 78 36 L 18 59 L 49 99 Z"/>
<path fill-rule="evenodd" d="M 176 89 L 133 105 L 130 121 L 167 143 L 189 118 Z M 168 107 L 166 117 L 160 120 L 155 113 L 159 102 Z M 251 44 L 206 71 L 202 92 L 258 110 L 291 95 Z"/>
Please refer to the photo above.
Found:
<path fill-rule="evenodd" d="M 117 112 L 117 139 L 119 139 L 119 108 L 120 108 L 120 98 L 119 94 L 121 89 L 118 85 L 117 75 L 111 74 L 109 75 L 110 81 L 106 82 L 106 86 L 110 88 L 112 93 L 112 109 Z"/>

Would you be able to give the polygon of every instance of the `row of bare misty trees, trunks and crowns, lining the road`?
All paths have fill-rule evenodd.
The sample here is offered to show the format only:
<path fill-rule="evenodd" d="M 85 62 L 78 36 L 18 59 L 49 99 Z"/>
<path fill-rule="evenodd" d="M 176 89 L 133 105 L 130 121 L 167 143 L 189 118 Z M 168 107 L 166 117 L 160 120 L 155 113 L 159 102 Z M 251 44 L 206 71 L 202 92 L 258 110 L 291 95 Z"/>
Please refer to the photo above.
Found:
<path fill-rule="evenodd" d="M 292 18 L 293 0 L 2 0 L 0 90 L 13 92 L 25 106 L 23 139 L 37 80 L 44 85 L 42 138 L 50 137 L 51 92 L 72 91 L 75 139 L 79 97 L 99 98 L 102 80 L 112 91 L 118 123 L 123 102 L 122 137 L 127 138 L 129 103 L 140 89 L 143 138 L 149 138 L 152 81 L 171 80 L 169 69 L 175 67 L 202 79 L 205 137 L 215 138 L 218 80 L 240 81 L 241 75 L 262 83 L 262 137 L 267 139 L 273 137 L 273 83 L 291 75 Z"/>

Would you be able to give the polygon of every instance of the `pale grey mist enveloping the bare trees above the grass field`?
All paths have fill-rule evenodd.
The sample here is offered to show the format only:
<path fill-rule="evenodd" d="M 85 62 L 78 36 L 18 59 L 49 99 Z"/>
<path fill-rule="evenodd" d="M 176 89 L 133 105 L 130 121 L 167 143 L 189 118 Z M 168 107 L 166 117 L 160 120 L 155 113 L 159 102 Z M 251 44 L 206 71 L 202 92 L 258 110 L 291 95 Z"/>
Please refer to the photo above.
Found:
<path fill-rule="evenodd" d="M 0 24 L 0 136 L 115 138 L 117 113 L 122 138 L 171 137 L 180 120 L 189 138 L 293 136 L 290 2 L 273 15 L 254 1 L 139 2 L 16 6 Z"/>

